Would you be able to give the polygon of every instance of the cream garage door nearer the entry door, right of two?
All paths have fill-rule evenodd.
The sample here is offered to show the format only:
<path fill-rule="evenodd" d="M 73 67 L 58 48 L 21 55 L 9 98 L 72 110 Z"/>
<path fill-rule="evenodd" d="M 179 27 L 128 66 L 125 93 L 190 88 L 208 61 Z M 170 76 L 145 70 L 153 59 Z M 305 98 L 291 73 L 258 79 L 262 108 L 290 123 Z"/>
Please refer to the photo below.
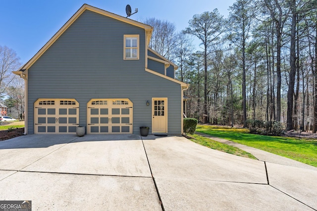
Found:
<path fill-rule="evenodd" d="M 87 133 L 133 132 L 133 103 L 129 99 L 92 99 L 87 104 Z"/>

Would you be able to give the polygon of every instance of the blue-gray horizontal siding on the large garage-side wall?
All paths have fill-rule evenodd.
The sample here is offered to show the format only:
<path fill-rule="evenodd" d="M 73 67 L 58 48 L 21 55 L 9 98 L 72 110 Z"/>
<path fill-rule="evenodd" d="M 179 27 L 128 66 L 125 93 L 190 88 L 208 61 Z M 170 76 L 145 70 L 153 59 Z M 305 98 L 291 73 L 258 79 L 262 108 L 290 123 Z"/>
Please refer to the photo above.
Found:
<path fill-rule="evenodd" d="M 139 60 L 123 60 L 125 34 L 140 35 Z M 168 133 L 179 134 L 181 86 L 145 71 L 145 48 L 144 29 L 86 10 L 28 71 L 28 133 L 38 98 L 75 98 L 80 126 L 90 99 L 129 98 L 138 134 L 140 126 L 152 127 L 152 97 L 167 97 Z"/>

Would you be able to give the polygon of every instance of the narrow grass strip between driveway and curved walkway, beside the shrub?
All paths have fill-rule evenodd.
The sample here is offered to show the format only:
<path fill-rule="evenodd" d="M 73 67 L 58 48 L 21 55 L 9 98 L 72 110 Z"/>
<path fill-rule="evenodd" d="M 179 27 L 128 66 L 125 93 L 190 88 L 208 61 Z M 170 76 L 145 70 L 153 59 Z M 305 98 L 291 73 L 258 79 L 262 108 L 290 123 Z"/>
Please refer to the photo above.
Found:
<path fill-rule="evenodd" d="M 210 138 L 206 138 L 206 137 L 203 137 L 203 136 L 197 135 L 197 134 L 194 134 L 193 137 L 194 138 L 190 139 L 191 141 L 198 143 L 200 145 L 209 147 L 211 149 L 215 149 L 215 150 L 218 150 L 221 152 L 226 152 L 226 153 L 229 153 L 232 155 L 237 155 L 237 156 L 241 156 L 241 157 L 245 157 L 245 158 L 256 159 L 252 154 L 250 154 L 246 151 L 243 151 L 237 147 L 229 146 L 229 145 L 211 140 Z"/>

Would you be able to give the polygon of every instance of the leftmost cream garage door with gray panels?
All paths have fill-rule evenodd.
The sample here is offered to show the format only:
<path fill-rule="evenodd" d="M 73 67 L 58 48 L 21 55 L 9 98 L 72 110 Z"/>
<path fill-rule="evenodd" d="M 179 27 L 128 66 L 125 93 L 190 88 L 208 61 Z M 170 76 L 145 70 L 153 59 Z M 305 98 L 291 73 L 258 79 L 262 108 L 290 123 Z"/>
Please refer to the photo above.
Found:
<path fill-rule="evenodd" d="M 34 133 L 76 133 L 79 103 L 75 99 L 38 99 L 34 123 Z"/>

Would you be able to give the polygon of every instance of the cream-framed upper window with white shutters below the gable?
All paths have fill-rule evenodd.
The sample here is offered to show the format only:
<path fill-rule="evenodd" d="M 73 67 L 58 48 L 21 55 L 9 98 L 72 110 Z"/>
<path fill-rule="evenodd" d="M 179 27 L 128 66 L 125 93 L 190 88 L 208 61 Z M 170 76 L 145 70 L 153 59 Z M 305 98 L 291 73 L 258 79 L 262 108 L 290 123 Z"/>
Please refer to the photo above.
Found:
<path fill-rule="evenodd" d="M 123 59 L 139 59 L 139 35 L 124 35 Z"/>

